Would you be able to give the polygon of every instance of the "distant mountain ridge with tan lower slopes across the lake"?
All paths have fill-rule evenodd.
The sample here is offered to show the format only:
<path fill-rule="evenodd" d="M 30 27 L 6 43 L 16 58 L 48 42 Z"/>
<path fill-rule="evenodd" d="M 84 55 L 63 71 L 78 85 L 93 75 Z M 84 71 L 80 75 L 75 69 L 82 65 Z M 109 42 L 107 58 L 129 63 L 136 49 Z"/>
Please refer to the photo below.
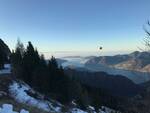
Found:
<path fill-rule="evenodd" d="M 86 64 L 103 64 L 116 69 L 139 72 L 150 72 L 150 53 L 135 51 L 125 55 L 99 56 L 90 59 Z"/>

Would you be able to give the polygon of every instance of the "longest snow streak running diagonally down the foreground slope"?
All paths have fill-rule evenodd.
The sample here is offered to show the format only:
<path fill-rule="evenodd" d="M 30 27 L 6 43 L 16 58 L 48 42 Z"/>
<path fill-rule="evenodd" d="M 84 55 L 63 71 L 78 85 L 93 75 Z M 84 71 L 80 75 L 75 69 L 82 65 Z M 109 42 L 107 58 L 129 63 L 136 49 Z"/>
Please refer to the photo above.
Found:
<path fill-rule="evenodd" d="M 27 94 L 27 91 L 32 90 L 28 85 L 26 84 L 19 84 L 17 82 L 14 82 L 9 87 L 9 91 L 13 98 L 15 98 L 16 101 L 20 103 L 25 103 L 34 107 L 37 107 L 39 109 L 43 109 L 45 111 L 54 111 L 59 112 L 61 110 L 61 107 L 57 106 L 54 107 L 51 102 L 44 101 L 44 100 L 38 100 L 34 97 L 31 97 Z"/>

